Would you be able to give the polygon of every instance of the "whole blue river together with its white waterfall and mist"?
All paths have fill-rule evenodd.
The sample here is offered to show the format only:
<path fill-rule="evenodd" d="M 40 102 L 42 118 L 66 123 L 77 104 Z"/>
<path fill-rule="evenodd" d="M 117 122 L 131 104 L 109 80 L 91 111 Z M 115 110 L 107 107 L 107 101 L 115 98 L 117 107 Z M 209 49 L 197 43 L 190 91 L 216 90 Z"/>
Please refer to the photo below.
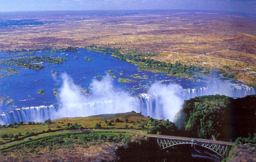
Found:
<path fill-rule="evenodd" d="M 19 53 L 0 52 L 0 59 L 25 57 Z M 85 48 L 80 48 L 79 52 L 36 51 L 32 56 L 47 54 L 66 57 L 68 60 L 53 65 L 39 63 L 45 68 L 38 71 L 13 67 L 20 73 L 12 76 L 0 71 L 6 76 L 0 78 L 1 124 L 131 110 L 142 112 L 145 116 L 175 121 L 184 99 L 209 94 L 232 97 L 255 94 L 254 88 L 235 81 L 220 78 L 192 81 L 165 73 L 140 71 L 137 66 L 112 57 L 111 53 L 104 55 Z M 84 57 L 93 60 L 84 60 Z M 10 66 L 0 64 L 0 67 Z M 134 78 L 134 74 L 141 78 Z M 121 83 L 118 78 L 135 82 Z M 58 97 L 53 95 L 54 88 Z M 83 88 L 87 93 L 84 93 Z M 45 94 L 37 93 L 39 89 L 43 89 Z"/>

